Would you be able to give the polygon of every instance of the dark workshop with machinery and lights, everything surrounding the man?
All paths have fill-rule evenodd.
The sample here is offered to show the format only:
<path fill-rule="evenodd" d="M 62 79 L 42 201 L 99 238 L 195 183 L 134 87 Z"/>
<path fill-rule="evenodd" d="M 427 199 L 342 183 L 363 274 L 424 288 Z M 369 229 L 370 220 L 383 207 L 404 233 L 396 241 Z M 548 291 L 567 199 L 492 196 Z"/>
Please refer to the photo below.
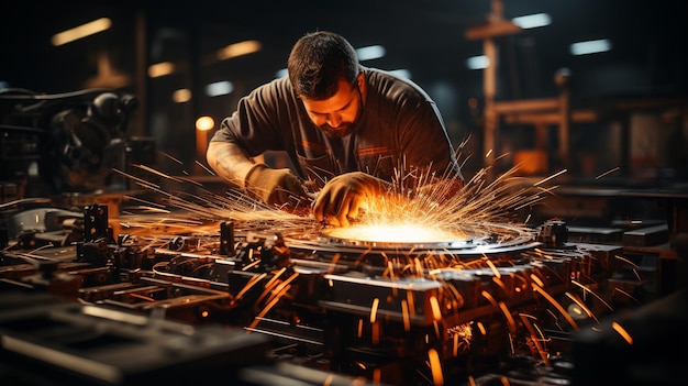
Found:
<path fill-rule="evenodd" d="M 211 172 L 317 30 L 436 102 L 474 209 L 411 233 L 463 235 Z M 687 382 L 686 1 L 12 2 L 0 44 L 0 384 Z"/>

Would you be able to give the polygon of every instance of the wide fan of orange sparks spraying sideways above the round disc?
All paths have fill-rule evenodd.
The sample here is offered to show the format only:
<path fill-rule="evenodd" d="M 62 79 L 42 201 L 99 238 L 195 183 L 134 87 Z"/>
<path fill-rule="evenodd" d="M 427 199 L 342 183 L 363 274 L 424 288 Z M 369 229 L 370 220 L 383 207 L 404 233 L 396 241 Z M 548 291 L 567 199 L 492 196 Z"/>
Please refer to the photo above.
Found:
<path fill-rule="evenodd" d="M 330 228 L 317 223 L 310 213 L 306 216 L 289 213 L 266 206 L 234 189 L 228 189 L 225 196 L 220 196 L 186 177 L 173 176 L 145 165 L 133 165 L 133 167 L 155 178 L 167 179 L 167 185 L 179 186 L 176 190 L 166 189 L 144 178 L 115 170 L 144 189 L 164 197 L 166 202 L 163 208 L 177 209 L 176 213 L 169 213 L 168 218 L 160 219 L 158 224 L 151 224 L 152 228 L 167 225 L 166 232 L 170 232 L 171 223 L 179 225 L 189 221 L 190 218 L 203 221 L 232 219 L 254 224 L 279 221 L 280 227 L 287 231 L 293 229 L 310 234 L 324 232 L 341 239 L 404 243 L 451 241 L 500 234 L 501 229 L 493 227 L 495 223 L 519 225 L 528 232 L 523 223 L 515 221 L 519 211 L 536 205 L 551 194 L 554 188 L 544 188 L 542 185 L 565 173 L 565 170 L 559 172 L 529 186 L 524 178 L 518 176 L 518 168 L 508 170 L 493 181 L 487 180 L 487 169 L 481 169 L 456 191 L 456 186 L 447 184 L 445 177 L 437 177 L 423 170 L 404 170 L 403 166 L 399 166 L 396 180 L 392 181 L 388 194 L 369 197 L 364 205 L 363 213 L 354 219 L 353 227 Z M 412 186 L 409 186 L 410 184 Z M 137 200 L 134 197 L 129 198 Z M 146 217 L 127 216 L 123 219 L 122 227 L 147 228 L 145 221 L 151 220 L 151 214 L 164 210 L 159 202 L 144 203 L 138 209 L 140 212 L 147 210 L 144 213 Z M 179 210 L 186 214 L 178 213 Z M 193 225 L 190 224 L 190 227 Z M 178 232 L 184 232 L 184 229 L 179 229 Z"/>

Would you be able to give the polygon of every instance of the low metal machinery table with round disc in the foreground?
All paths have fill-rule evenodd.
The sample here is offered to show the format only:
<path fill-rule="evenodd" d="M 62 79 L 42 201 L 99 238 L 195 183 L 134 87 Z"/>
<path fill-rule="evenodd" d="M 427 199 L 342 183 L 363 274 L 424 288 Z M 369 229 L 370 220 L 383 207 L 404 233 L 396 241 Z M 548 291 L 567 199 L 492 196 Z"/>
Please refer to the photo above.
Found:
<path fill-rule="evenodd" d="M 35 211 L 14 220 L 26 224 Z M 181 234 L 132 228 L 115 239 L 107 206 L 85 207 L 82 216 L 43 211 L 43 219 L 59 219 L 47 222 L 63 228 L 12 228 L 0 294 L 59 296 L 67 301 L 62 307 L 86 307 L 89 316 L 119 315 L 113 322 L 127 315 L 148 320 L 140 321 L 144 326 L 221 326 L 230 329 L 228 344 L 243 330 L 264 338 L 251 349 L 265 357 L 247 367 L 269 360 L 395 385 L 464 384 L 496 368 L 540 379 L 535 370 L 542 367 L 547 377 L 566 379 L 570 333 L 604 313 L 602 302 L 578 286 L 606 291 L 604 279 L 619 265 L 618 247 L 568 244 L 561 221 L 532 231 L 495 224 L 492 235 L 407 245 L 337 240 L 293 221 L 279 232 L 270 220 L 230 220 Z M 19 312 L 16 302 L 3 310 L 2 334 L 22 337 L 18 326 L 33 317 Z M 82 339 L 79 348 L 103 344 L 99 333 Z M 51 341 L 33 344 L 59 350 Z M 113 355 L 124 350 L 108 348 Z M 12 346 L 3 355 L 51 362 Z M 109 364 L 116 367 L 116 361 Z M 129 381 L 98 376 L 90 381 Z"/>

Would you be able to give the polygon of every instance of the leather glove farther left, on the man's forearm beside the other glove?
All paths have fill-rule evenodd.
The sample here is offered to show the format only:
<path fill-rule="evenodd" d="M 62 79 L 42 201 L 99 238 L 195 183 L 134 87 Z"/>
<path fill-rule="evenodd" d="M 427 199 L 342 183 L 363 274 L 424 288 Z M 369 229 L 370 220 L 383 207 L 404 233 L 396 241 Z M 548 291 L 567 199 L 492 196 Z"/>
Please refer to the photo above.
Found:
<path fill-rule="evenodd" d="M 256 164 L 248 170 L 244 186 L 268 206 L 288 205 L 296 208 L 303 206 L 304 201 L 310 205 L 312 200 L 301 179 L 289 168 L 274 169 L 264 164 Z"/>

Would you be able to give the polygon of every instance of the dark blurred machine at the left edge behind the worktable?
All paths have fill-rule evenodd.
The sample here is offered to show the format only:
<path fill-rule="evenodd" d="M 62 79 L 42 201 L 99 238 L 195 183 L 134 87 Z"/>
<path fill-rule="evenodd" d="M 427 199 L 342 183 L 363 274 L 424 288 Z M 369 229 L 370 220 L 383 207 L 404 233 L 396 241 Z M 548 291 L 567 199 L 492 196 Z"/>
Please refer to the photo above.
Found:
<path fill-rule="evenodd" d="M 0 90 L 2 201 L 112 186 L 112 169 L 125 164 L 136 107 L 135 97 L 111 89 Z"/>

